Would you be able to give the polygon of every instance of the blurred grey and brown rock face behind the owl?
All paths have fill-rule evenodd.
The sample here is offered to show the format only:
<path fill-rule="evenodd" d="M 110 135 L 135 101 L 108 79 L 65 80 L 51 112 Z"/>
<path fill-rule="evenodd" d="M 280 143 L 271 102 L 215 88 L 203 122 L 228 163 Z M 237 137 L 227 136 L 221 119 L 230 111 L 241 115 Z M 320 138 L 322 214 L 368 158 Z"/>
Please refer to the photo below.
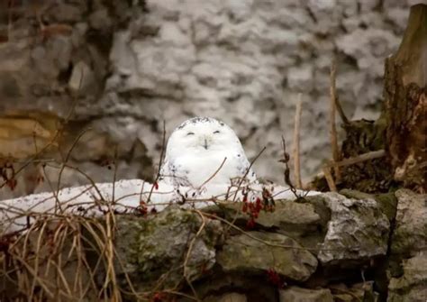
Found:
<path fill-rule="evenodd" d="M 255 170 L 282 183 L 300 93 L 308 179 L 331 158 L 332 59 L 347 116 L 376 119 L 414 3 L 0 0 L 0 167 L 19 171 L 0 178 L 0 199 L 114 173 L 152 180 L 163 121 L 168 136 L 195 115 L 229 124 L 250 158 L 266 146 Z"/>

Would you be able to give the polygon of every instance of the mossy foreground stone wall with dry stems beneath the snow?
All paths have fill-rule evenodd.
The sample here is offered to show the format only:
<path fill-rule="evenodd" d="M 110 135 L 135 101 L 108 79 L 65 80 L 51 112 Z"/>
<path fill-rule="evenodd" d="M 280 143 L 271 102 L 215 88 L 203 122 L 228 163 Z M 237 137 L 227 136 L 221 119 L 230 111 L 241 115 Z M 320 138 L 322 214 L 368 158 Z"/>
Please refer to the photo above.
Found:
<path fill-rule="evenodd" d="M 37 224 L 3 238 L 0 298 L 424 302 L 427 196 L 341 193 L 100 219 L 32 213 Z"/>

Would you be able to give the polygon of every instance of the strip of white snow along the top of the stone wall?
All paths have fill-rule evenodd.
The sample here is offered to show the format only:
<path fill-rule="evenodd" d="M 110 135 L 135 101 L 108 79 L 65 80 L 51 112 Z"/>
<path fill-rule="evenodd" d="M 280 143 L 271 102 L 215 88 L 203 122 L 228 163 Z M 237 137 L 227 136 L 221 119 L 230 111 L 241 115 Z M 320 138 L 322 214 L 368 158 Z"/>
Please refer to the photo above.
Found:
<path fill-rule="evenodd" d="M 204 188 L 173 187 L 159 183 L 158 186 L 141 179 L 119 180 L 74 188 L 63 188 L 57 192 L 32 194 L 26 197 L 0 200 L 0 230 L 14 233 L 28 228 L 37 215 L 60 214 L 102 216 L 107 211 L 133 213 L 141 205 L 146 211 L 157 212 L 174 203 L 200 208 L 218 201 L 241 201 L 244 192 L 253 202 L 267 188 L 275 199 L 295 199 L 289 188 L 277 185 L 208 184 Z M 316 195 L 319 192 L 298 191 L 298 194 Z"/>

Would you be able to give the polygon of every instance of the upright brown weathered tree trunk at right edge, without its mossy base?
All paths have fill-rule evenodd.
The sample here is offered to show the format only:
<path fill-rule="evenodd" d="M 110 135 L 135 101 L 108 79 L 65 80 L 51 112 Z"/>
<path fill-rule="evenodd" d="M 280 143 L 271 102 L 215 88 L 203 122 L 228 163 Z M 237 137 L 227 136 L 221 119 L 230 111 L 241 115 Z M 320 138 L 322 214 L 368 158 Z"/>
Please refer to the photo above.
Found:
<path fill-rule="evenodd" d="M 386 154 L 395 180 L 427 191 L 427 5 L 413 5 L 404 39 L 386 59 Z"/>

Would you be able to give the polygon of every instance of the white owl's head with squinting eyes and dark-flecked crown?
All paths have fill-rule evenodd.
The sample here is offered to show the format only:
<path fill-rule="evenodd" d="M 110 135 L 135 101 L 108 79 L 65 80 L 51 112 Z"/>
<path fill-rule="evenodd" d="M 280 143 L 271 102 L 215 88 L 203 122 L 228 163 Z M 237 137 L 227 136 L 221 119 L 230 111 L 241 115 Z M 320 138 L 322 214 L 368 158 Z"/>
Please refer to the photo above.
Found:
<path fill-rule="evenodd" d="M 170 135 L 167 156 L 183 152 L 206 153 L 241 150 L 241 142 L 228 125 L 211 117 L 194 117 L 180 124 Z"/>

